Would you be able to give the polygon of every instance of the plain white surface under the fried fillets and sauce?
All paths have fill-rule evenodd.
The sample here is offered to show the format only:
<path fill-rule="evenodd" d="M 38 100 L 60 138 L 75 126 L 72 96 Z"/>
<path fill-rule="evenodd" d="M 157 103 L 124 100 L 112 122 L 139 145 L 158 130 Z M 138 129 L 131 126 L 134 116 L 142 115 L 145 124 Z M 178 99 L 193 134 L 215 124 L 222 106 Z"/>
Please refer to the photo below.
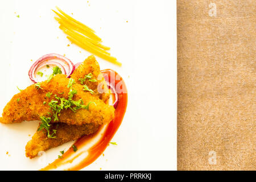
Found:
<path fill-rule="evenodd" d="M 85 169 L 176 170 L 176 1 L 0 0 L 0 114 L 19 92 L 16 86 L 31 84 L 28 69 L 39 57 L 59 53 L 77 63 L 90 55 L 74 44 L 67 47 L 70 42 L 53 18 L 55 6 L 73 13 L 111 47 L 122 67 L 96 59 L 101 69 L 117 71 L 128 89 L 125 118 L 112 139 L 118 145 Z M 37 126 L 0 123 L 0 169 L 44 167 L 24 152 Z M 71 144 L 47 151 L 47 163 Z"/>

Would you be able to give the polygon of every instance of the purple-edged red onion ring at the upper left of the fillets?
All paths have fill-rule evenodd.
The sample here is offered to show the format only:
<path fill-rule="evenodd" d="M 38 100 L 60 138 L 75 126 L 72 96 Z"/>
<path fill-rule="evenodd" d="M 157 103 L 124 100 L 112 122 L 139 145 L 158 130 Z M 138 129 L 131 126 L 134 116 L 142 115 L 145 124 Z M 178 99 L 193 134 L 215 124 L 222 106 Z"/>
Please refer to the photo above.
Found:
<path fill-rule="evenodd" d="M 60 60 L 60 62 L 57 62 L 56 60 L 51 61 L 51 59 L 58 59 Z M 37 82 L 36 70 L 38 70 L 39 68 L 42 68 L 44 65 L 47 65 L 47 64 L 57 65 L 58 67 L 60 67 L 61 71 L 63 71 L 63 73 L 67 75 L 68 78 L 71 76 L 73 71 L 75 71 L 75 65 L 71 62 L 71 60 L 67 59 L 67 57 L 58 55 L 57 53 L 49 53 L 47 55 L 40 57 L 31 66 L 30 71 L 28 72 L 28 76 L 30 76 L 30 80 L 36 83 Z"/>

